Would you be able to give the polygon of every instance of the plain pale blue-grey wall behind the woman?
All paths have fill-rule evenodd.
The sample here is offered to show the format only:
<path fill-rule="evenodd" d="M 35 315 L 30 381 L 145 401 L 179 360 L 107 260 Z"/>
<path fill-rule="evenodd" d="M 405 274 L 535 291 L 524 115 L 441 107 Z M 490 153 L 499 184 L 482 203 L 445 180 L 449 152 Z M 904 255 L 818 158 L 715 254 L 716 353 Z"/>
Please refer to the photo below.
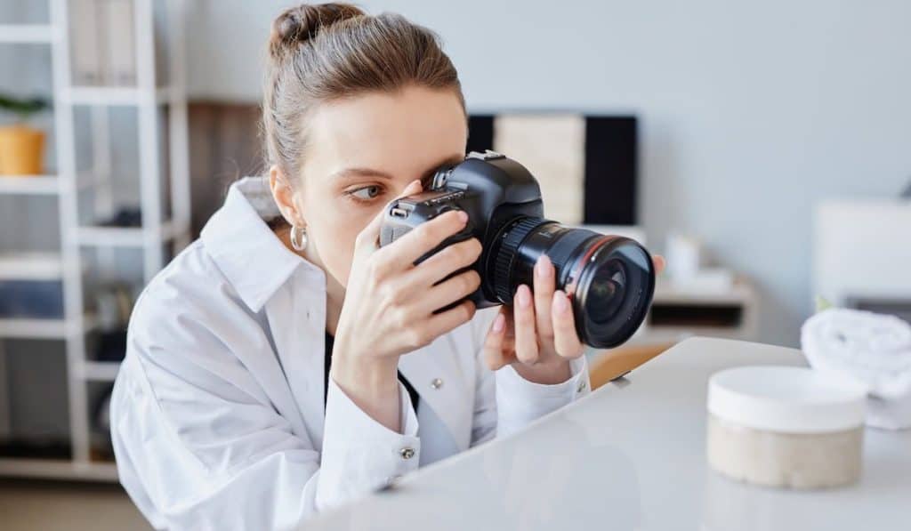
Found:
<path fill-rule="evenodd" d="M 191 92 L 259 98 L 271 19 L 290 2 L 201 2 Z M 811 213 L 911 179 L 911 3 L 361 2 L 445 40 L 471 110 L 632 110 L 653 246 L 700 234 L 763 296 L 761 338 L 812 310 Z M 911 232 L 911 228 L 909 228 Z"/>

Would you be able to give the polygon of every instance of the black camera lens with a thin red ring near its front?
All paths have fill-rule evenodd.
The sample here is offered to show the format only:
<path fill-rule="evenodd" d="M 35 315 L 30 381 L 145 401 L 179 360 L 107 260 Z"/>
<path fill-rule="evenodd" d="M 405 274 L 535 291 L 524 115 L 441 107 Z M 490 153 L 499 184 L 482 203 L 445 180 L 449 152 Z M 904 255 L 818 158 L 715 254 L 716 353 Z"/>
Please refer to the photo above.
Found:
<path fill-rule="evenodd" d="M 519 284 L 534 287 L 534 267 L 547 254 L 556 287 L 570 297 L 576 331 L 594 348 L 625 342 L 640 327 L 655 289 L 649 252 L 639 243 L 556 221 L 520 217 L 499 230 L 486 257 L 485 291 L 505 304 Z"/>

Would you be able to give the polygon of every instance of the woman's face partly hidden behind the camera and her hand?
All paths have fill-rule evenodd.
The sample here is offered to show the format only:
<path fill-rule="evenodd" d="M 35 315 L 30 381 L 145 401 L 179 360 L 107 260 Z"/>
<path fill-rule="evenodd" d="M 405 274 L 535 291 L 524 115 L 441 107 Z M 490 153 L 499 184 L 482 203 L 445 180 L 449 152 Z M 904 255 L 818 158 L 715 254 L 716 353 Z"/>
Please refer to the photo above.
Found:
<path fill-rule="evenodd" d="M 307 254 L 348 284 L 358 233 L 409 182 L 465 158 L 465 111 L 451 90 L 405 87 L 317 106 L 293 202 Z M 315 249 L 312 249 L 315 248 Z"/>

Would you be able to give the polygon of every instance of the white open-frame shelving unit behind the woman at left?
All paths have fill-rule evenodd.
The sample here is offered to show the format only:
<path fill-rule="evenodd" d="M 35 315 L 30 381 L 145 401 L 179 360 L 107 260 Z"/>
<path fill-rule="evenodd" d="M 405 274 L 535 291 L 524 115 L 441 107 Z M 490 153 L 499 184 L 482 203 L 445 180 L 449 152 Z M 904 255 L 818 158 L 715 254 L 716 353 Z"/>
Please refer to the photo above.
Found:
<path fill-rule="evenodd" d="M 173 242 L 174 252 L 189 244 L 189 148 L 185 83 L 185 31 L 183 0 L 134 0 L 135 87 L 74 87 L 71 79 L 68 0 L 49 0 L 47 25 L 0 25 L 0 45 L 5 43 L 50 46 L 54 120 L 56 128 L 56 174 L 0 177 L 0 194 L 56 195 L 59 209 L 60 278 L 64 291 L 64 319 L 0 319 L 0 377 L 4 376 L 3 341 L 11 338 L 64 342 L 67 352 L 67 387 L 70 439 L 73 458 L 66 460 L 0 458 L 0 475 L 101 480 L 117 478 L 113 463 L 91 459 L 91 433 L 87 384 L 111 382 L 119 364 L 97 362 L 86 352 L 86 333 L 96 321 L 87 314 L 83 299 L 86 248 L 138 248 L 143 251 L 143 278 L 151 279 L 164 266 L 163 246 Z M 156 74 L 155 16 L 164 10 L 169 26 L 168 86 L 160 87 Z M 111 148 L 108 108 L 135 107 L 138 116 L 139 192 L 142 210 L 140 228 L 80 226 L 80 190 L 91 187 L 97 204 L 111 201 Z M 168 107 L 169 168 L 161 171 L 162 137 L 158 113 Z M 93 168 L 77 171 L 74 114 L 77 107 L 90 109 Z M 83 131 L 79 131 L 83 134 Z M 162 216 L 163 175 L 168 175 L 170 219 Z M 9 251 L 9 250 L 5 250 Z M 6 255 L 8 256 L 8 255 Z M 8 355 L 8 354 L 7 354 Z M 6 391 L 0 382 L 0 393 Z M 8 399 L 0 398 L 0 407 Z M 2 417 L 0 412 L 0 417 Z M 3 427 L 3 426 L 0 426 Z"/>

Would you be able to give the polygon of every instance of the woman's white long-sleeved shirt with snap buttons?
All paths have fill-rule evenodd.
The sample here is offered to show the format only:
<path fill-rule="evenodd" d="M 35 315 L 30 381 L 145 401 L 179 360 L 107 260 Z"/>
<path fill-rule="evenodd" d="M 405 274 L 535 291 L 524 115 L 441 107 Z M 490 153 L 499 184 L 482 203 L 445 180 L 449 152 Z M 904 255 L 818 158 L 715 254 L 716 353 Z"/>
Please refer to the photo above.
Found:
<path fill-rule="evenodd" d="M 111 401 L 120 482 L 153 526 L 292 528 L 315 512 L 503 436 L 589 392 L 584 356 L 565 383 L 493 373 L 497 308 L 402 356 L 403 433 L 325 376 L 325 273 L 284 247 L 268 181 L 245 178 L 200 240 L 148 283 Z"/>

